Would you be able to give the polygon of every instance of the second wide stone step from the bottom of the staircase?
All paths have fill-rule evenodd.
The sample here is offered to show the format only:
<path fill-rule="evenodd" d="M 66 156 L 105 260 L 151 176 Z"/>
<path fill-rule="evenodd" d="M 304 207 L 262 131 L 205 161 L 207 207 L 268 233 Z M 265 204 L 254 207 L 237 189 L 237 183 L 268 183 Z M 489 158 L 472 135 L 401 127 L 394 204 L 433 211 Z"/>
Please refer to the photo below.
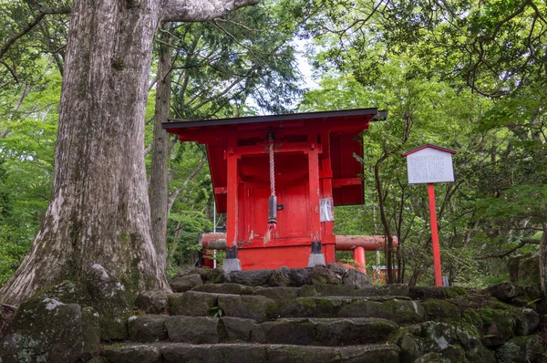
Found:
<path fill-rule="evenodd" d="M 398 325 L 386 319 L 281 318 L 258 324 L 253 319 L 212 316 L 131 316 L 129 340 L 191 344 L 256 342 L 301 346 L 343 346 L 387 342 Z"/>

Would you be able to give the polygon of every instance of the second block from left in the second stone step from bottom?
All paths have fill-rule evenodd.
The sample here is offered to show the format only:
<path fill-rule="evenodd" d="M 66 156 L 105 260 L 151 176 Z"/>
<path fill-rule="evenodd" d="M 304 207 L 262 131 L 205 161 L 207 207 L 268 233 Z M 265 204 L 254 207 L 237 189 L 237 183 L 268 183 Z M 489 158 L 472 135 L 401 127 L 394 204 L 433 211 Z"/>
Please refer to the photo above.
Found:
<path fill-rule="evenodd" d="M 169 316 L 165 327 L 171 342 L 216 344 L 219 318 L 212 316 Z"/>

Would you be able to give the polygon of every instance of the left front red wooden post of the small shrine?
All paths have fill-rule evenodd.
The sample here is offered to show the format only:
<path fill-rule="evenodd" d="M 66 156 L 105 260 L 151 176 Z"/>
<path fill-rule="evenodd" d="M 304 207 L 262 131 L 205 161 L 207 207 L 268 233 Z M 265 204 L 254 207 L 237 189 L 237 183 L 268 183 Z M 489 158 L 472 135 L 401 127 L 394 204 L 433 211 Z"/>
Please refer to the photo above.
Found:
<path fill-rule="evenodd" d="M 226 206 L 226 246 L 232 247 L 237 244 L 237 155 L 235 153 L 235 142 L 230 142 L 226 152 L 228 161 L 228 185 L 227 185 L 227 206 Z"/>

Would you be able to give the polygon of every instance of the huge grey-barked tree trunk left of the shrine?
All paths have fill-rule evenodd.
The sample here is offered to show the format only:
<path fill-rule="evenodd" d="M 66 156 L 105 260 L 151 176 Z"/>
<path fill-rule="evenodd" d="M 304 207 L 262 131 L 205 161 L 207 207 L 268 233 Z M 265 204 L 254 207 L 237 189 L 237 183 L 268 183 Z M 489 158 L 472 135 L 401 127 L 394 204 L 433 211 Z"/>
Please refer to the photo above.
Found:
<path fill-rule="evenodd" d="M 144 112 L 160 20 L 202 21 L 257 0 L 74 0 L 51 202 L 0 290 L 19 304 L 101 264 L 126 289 L 168 288 L 150 237 Z"/>

